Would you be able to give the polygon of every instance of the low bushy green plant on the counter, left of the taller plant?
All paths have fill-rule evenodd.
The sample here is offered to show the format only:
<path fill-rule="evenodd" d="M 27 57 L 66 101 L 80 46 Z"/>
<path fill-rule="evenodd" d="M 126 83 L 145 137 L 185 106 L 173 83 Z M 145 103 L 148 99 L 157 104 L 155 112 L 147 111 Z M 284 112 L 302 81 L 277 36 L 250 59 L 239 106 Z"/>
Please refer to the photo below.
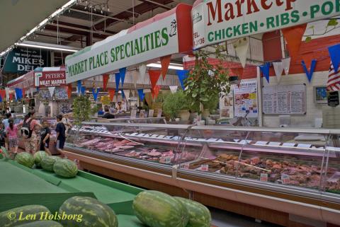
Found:
<path fill-rule="evenodd" d="M 183 91 L 177 91 L 174 94 L 166 95 L 163 103 L 163 112 L 171 119 L 174 119 L 179 110 L 188 110 L 188 101 Z"/>

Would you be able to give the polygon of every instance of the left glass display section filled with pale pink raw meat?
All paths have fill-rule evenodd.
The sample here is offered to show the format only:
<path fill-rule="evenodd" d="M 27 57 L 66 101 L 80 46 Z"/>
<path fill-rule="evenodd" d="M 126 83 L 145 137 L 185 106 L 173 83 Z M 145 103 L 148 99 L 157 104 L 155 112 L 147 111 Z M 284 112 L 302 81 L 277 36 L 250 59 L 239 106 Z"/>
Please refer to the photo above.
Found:
<path fill-rule="evenodd" d="M 67 149 L 171 167 L 187 125 L 83 122 L 67 137 Z M 126 159 L 128 158 L 128 159 Z"/>

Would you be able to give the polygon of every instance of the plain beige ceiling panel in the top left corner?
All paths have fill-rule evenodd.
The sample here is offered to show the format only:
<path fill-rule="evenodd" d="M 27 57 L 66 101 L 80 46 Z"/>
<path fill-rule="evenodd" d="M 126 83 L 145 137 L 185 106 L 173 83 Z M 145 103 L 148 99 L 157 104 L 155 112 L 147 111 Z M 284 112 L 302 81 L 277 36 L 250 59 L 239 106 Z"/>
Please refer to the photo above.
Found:
<path fill-rule="evenodd" d="M 69 0 L 1 0 L 0 52 L 35 28 Z"/>

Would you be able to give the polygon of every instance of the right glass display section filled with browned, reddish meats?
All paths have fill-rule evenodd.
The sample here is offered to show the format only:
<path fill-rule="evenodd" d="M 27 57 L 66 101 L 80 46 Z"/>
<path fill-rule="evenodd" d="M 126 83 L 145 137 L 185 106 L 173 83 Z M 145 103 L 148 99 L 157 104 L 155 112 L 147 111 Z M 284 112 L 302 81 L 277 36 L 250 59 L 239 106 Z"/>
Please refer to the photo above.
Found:
<path fill-rule="evenodd" d="M 179 147 L 180 170 L 339 201 L 339 136 L 330 129 L 192 127 Z"/>

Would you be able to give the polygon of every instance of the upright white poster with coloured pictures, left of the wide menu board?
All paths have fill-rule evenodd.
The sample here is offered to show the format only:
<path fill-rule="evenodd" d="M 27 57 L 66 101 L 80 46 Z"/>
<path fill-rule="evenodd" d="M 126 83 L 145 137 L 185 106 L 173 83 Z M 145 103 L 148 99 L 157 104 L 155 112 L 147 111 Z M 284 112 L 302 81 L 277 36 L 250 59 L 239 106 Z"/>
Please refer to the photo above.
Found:
<path fill-rule="evenodd" d="M 234 88 L 234 116 L 257 117 L 257 83 L 256 80 L 242 81 Z"/>

